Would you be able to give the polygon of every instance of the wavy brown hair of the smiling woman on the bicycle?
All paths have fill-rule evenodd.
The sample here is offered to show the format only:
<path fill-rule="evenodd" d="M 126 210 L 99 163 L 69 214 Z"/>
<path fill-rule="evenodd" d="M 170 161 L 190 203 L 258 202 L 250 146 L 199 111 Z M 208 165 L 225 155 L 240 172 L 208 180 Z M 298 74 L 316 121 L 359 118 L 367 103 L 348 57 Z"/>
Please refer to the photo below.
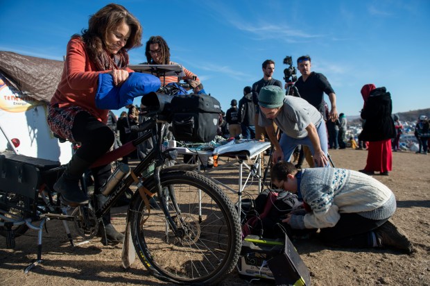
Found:
<path fill-rule="evenodd" d="M 94 60 L 106 50 L 107 35 L 122 22 L 130 26 L 130 37 L 126 45 L 121 49 L 121 53 L 141 47 L 142 27 L 126 8 L 121 5 L 110 3 L 98 10 L 89 18 L 88 28 L 82 31 L 82 39 L 87 46 L 89 58 Z M 73 35 L 76 37 L 79 35 Z"/>

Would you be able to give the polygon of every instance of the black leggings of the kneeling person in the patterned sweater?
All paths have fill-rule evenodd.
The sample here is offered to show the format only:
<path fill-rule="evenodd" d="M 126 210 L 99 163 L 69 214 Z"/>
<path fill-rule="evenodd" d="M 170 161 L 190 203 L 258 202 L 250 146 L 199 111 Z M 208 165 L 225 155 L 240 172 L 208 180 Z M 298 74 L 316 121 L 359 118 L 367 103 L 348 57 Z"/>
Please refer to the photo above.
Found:
<path fill-rule="evenodd" d="M 336 226 L 321 228 L 320 237 L 329 245 L 365 248 L 373 246 L 372 230 L 379 228 L 388 219 L 366 219 L 356 213 L 341 214 Z"/>

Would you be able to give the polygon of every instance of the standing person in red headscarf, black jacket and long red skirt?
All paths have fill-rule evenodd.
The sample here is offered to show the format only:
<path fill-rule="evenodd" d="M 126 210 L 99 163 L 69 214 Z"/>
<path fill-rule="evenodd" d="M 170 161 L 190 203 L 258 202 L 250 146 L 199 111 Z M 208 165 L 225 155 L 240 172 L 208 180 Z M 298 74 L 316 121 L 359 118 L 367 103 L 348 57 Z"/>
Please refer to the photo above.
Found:
<path fill-rule="evenodd" d="M 365 121 L 359 140 L 368 141 L 369 146 L 367 163 L 365 168 L 359 171 L 368 175 L 379 171 L 380 175 L 388 176 L 393 165 L 391 138 L 395 137 L 390 92 L 387 92 L 385 87 L 377 88 L 370 83 L 363 85 L 361 95 L 364 100 L 361 118 Z"/>

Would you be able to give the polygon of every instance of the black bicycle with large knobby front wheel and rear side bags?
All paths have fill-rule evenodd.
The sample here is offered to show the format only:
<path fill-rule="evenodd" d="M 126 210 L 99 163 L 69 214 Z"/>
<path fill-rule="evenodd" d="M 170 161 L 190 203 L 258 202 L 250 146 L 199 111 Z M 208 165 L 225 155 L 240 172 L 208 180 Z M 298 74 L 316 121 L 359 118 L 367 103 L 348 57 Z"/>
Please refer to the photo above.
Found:
<path fill-rule="evenodd" d="M 109 199 L 98 210 L 89 203 L 67 214 L 68 208 L 60 205 L 60 194 L 53 191 L 53 183 L 65 166 L 49 160 L 0 153 L 0 174 L 6 174 L 0 176 L 0 235 L 6 236 L 7 245 L 13 247 L 15 237 L 28 228 L 39 232 L 37 260 L 26 272 L 42 262 L 42 230 L 46 221 L 62 220 L 74 246 L 67 221 L 73 221 L 84 238 L 94 237 L 103 214 L 134 183 L 139 191 L 132 196 L 127 221 L 136 253 L 151 274 L 173 283 L 211 285 L 234 269 L 241 250 L 241 226 L 234 204 L 212 179 L 196 172 L 196 165 L 169 165 L 178 153 L 162 148 L 162 96 L 165 95 L 143 96 L 142 103 L 149 98 L 159 105 L 144 103 L 148 106 L 146 117 L 149 119 L 135 128 L 136 132 L 143 133 L 141 136 L 106 153 L 92 165 L 97 167 L 117 160 L 146 140 L 151 140 L 155 146 L 134 169 L 128 174 L 126 171 L 118 183 L 107 181 L 106 185 L 114 187 Z M 20 165 L 24 169 L 12 174 L 10 165 Z M 150 167 L 154 170 L 148 173 Z M 6 180 L 1 181 L 1 178 L 17 178 L 23 174 L 27 183 L 24 189 L 22 184 L 9 182 L 5 185 Z M 20 191 L 17 187 L 21 187 Z M 81 180 L 81 187 L 87 191 L 85 180 Z M 40 221 L 40 225 L 34 226 L 33 221 Z"/>

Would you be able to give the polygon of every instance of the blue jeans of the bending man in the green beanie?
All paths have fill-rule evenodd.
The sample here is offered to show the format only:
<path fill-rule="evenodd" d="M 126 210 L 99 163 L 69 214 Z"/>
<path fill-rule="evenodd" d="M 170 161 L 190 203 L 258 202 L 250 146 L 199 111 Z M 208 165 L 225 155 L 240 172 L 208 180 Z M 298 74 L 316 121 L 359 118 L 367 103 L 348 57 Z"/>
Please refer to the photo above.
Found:
<path fill-rule="evenodd" d="M 318 137 L 320 137 L 321 150 L 324 152 L 326 157 L 328 157 L 327 131 L 325 128 L 324 121 L 322 121 L 318 126 L 316 126 L 316 131 L 318 132 Z M 294 152 L 295 147 L 298 145 L 308 146 L 311 150 L 312 155 L 315 154 L 315 150 L 313 150 L 313 146 L 311 140 L 309 139 L 309 136 L 298 139 L 289 137 L 289 135 L 282 133 L 281 140 L 279 140 L 279 144 L 281 145 L 282 152 L 284 152 L 284 160 L 290 159 L 291 154 Z M 327 165 L 325 167 L 329 167 L 329 162 L 327 162 Z"/>

